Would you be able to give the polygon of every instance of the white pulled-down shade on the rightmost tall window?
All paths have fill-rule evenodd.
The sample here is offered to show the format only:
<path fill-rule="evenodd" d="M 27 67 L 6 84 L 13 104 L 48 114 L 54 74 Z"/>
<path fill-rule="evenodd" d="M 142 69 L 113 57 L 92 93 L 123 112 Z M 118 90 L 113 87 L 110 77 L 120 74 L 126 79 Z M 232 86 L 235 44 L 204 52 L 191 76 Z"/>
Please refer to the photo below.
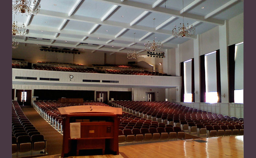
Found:
<path fill-rule="evenodd" d="M 235 90 L 244 89 L 244 44 L 235 46 Z"/>

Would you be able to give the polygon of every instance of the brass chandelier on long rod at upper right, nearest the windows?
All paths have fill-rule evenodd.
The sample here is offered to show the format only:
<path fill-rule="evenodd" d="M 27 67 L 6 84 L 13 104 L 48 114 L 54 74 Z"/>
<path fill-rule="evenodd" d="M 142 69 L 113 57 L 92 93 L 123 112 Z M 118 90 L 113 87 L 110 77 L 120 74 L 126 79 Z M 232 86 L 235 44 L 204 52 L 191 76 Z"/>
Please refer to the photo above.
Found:
<path fill-rule="evenodd" d="M 182 0 L 182 12 L 184 12 L 184 2 Z M 195 34 L 195 27 L 193 27 L 193 24 L 191 24 L 191 26 L 189 27 L 189 23 L 188 23 L 188 27 L 185 27 L 184 25 L 184 16 L 183 16 L 183 23 L 181 26 L 180 23 L 180 27 L 178 27 L 178 29 L 176 30 L 176 25 L 174 26 L 174 28 L 172 29 L 172 34 L 174 37 L 191 37 Z"/>

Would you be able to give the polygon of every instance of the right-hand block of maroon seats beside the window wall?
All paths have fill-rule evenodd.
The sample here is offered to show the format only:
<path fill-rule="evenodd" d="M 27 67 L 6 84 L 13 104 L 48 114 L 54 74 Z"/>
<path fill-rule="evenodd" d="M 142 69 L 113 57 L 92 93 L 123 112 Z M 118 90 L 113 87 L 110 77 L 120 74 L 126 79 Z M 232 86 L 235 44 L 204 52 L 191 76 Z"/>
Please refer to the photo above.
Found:
<path fill-rule="evenodd" d="M 181 127 L 182 130 L 188 131 L 189 134 L 196 133 L 198 136 L 207 134 L 208 137 L 243 135 L 243 118 L 212 114 L 170 102 L 114 101 L 113 104 L 132 113 L 129 115 Z M 144 107 L 148 108 L 148 110 L 143 109 Z M 184 109 L 189 110 L 184 111 Z M 152 111 L 150 112 L 150 110 Z"/>

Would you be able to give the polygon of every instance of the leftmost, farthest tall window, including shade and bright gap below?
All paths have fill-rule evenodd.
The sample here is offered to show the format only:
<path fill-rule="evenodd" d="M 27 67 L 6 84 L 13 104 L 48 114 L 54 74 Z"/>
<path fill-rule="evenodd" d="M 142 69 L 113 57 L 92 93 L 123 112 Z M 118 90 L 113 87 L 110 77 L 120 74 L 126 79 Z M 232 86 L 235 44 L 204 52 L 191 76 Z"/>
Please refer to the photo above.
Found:
<path fill-rule="evenodd" d="M 192 59 L 184 61 L 184 102 L 192 102 Z"/>

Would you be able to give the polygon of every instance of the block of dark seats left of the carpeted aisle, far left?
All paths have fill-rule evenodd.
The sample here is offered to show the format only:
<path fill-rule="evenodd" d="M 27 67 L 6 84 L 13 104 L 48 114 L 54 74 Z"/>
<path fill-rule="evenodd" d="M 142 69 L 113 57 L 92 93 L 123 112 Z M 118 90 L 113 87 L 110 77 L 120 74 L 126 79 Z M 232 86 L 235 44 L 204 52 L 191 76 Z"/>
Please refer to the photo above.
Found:
<path fill-rule="evenodd" d="M 41 151 L 46 153 L 44 136 L 32 125 L 23 113 L 17 101 L 12 101 L 12 153 L 18 157 L 21 153 Z"/>

